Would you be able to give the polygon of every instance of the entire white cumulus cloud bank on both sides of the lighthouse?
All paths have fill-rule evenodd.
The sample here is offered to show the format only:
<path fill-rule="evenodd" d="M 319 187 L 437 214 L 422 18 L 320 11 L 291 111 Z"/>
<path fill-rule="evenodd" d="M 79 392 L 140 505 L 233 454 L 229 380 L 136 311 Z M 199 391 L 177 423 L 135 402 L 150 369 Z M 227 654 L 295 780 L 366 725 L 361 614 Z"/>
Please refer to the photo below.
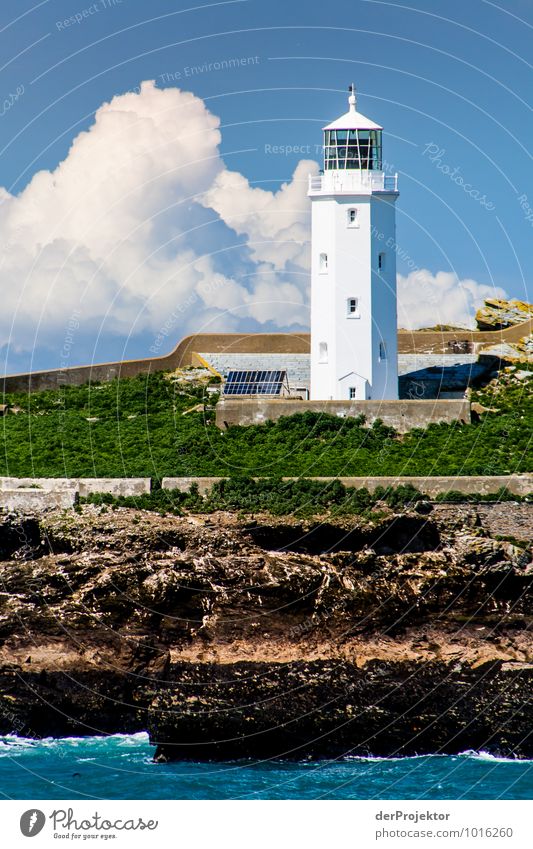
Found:
<path fill-rule="evenodd" d="M 307 178 L 318 166 L 301 161 L 267 191 L 227 168 L 220 141 L 200 98 L 147 81 L 104 103 L 54 170 L 19 195 L 0 187 L 4 350 L 59 356 L 73 315 L 77 361 L 106 335 L 144 334 L 163 353 L 195 330 L 305 328 Z M 399 277 L 399 323 L 464 324 L 503 294 L 413 272 Z"/>

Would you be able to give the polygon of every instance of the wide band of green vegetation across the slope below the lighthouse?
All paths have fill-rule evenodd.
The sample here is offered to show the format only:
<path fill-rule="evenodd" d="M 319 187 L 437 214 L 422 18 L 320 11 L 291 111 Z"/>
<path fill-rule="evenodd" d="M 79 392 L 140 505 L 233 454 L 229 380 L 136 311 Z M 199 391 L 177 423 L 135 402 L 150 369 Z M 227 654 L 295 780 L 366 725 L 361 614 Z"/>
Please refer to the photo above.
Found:
<path fill-rule="evenodd" d="M 403 435 L 381 422 L 365 427 L 361 418 L 311 412 L 223 432 L 214 424 L 216 395 L 163 374 L 11 394 L 5 403 L 21 412 L 2 419 L 0 474 L 158 480 L 529 472 L 532 383 L 504 375 L 473 397 L 497 414 Z"/>

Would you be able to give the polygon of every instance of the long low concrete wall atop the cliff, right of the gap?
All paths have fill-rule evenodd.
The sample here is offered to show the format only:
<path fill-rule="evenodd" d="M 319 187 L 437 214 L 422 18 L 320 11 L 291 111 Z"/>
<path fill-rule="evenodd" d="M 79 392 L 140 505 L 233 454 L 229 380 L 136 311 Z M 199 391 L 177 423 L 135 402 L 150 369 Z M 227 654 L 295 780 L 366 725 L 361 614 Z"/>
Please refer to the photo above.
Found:
<path fill-rule="evenodd" d="M 191 484 L 196 483 L 201 495 L 209 492 L 213 484 L 224 478 L 163 478 L 161 486 L 163 489 L 178 489 L 180 492 L 188 492 Z M 257 479 L 256 479 L 257 480 Z M 298 480 L 298 478 L 283 478 L 283 480 Z M 495 475 L 489 477 L 486 475 L 476 475 L 473 477 L 358 477 L 358 478 L 311 478 L 310 480 L 323 481 L 327 483 L 332 480 L 339 480 L 346 487 L 354 489 L 362 489 L 365 487 L 370 492 L 374 492 L 378 486 L 400 486 L 401 484 L 410 483 L 419 492 L 425 495 L 434 497 L 442 492 L 463 492 L 466 494 L 479 493 L 488 495 L 489 493 L 498 492 L 499 489 L 505 487 L 514 495 L 529 495 L 533 492 L 533 475 Z"/>

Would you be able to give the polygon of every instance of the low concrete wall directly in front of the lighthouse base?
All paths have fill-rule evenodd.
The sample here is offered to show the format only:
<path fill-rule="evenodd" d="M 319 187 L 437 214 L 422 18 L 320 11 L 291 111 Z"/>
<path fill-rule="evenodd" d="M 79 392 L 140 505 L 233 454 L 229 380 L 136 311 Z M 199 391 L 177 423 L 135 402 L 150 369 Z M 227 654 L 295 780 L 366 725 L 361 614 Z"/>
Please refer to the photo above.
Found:
<path fill-rule="evenodd" d="M 470 402 L 464 399 L 416 401 L 292 401 L 282 399 L 222 400 L 216 407 L 216 423 L 222 430 L 231 425 L 263 424 L 295 413 L 327 413 L 330 416 L 364 415 L 367 424 L 381 419 L 405 433 L 432 422 L 470 422 Z"/>

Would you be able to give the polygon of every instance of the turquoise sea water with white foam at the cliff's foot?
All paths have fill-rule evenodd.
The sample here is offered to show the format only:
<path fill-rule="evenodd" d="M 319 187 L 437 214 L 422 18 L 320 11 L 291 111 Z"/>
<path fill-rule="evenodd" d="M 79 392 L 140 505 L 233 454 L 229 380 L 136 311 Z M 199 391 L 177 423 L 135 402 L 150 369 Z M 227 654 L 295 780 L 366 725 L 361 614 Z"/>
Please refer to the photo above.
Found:
<path fill-rule="evenodd" d="M 458 756 L 154 764 L 146 734 L 0 737 L 11 799 L 531 799 L 533 761 Z"/>

